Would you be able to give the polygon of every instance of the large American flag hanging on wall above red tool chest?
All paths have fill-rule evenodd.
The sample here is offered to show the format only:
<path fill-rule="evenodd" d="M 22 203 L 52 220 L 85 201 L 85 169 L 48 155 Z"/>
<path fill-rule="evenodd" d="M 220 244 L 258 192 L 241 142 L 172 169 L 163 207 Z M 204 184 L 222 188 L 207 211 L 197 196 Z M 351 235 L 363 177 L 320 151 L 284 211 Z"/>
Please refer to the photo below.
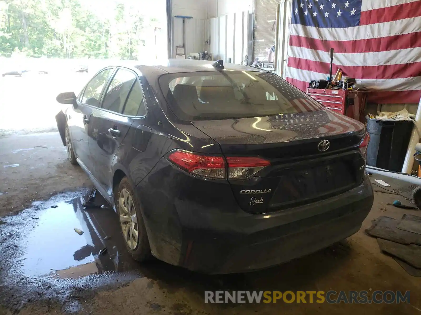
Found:
<path fill-rule="evenodd" d="M 333 74 L 357 79 L 376 103 L 418 103 L 421 0 L 293 0 L 286 79 L 301 90 Z"/>

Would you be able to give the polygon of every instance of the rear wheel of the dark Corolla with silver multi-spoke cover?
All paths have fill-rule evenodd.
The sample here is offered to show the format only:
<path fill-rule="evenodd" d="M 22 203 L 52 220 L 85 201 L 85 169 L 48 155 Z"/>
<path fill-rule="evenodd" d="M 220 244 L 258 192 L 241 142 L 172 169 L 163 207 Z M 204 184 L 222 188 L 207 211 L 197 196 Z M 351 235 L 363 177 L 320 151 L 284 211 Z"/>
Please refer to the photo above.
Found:
<path fill-rule="evenodd" d="M 115 207 L 128 252 L 134 260 L 139 262 L 148 260 L 151 257 L 151 249 L 140 210 L 140 202 L 127 177 L 123 177 L 118 185 L 115 194 Z"/>

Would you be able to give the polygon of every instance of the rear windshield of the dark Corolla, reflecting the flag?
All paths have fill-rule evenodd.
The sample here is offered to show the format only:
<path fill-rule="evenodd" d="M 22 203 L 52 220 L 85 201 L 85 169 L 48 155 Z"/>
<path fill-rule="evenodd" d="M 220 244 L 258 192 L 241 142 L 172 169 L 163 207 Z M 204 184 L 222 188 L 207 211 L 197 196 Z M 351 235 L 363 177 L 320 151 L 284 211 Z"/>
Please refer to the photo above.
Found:
<path fill-rule="evenodd" d="M 305 93 L 270 72 L 164 74 L 160 87 L 181 120 L 235 119 L 323 110 Z"/>

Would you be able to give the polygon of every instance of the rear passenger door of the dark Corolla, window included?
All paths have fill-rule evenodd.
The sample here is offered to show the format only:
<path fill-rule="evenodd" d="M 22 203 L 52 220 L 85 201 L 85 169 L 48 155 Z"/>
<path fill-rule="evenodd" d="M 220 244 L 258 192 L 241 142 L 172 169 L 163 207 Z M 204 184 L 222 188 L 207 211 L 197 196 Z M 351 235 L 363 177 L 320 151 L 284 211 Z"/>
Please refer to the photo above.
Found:
<path fill-rule="evenodd" d="M 91 115 L 89 138 L 95 160 L 93 176 L 111 193 L 112 160 L 136 117 L 146 115 L 139 77 L 127 68 L 117 68 L 98 108 Z"/>

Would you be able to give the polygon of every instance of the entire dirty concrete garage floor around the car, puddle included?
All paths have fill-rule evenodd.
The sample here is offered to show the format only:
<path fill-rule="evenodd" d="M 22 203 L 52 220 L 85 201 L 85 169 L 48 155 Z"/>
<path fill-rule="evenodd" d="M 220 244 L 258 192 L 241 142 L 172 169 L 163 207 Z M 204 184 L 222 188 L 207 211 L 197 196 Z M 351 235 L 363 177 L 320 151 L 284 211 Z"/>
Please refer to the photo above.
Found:
<path fill-rule="evenodd" d="M 131 260 L 113 210 L 81 207 L 91 183 L 66 161 L 58 133 L 2 137 L 0 161 L 0 314 L 421 314 L 421 278 L 363 232 L 380 215 L 418 214 L 386 205 L 395 195 L 376 192 L 346 241 L 267 270 L 206 276 Z M 205 304 L 205 290 L 411 293 L 410 304 Z"/>

